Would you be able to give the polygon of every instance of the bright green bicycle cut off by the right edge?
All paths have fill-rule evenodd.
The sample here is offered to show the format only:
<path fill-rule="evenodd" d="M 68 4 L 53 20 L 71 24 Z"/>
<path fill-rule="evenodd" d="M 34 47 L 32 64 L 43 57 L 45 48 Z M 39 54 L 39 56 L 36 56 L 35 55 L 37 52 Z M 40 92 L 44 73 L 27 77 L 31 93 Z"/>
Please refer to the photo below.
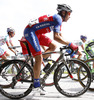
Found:
<path fill-rule="evenodd" d="M 84 62 L 88 65 L 88 68 L 91 72 L 91 85 L 89 87 L 90 91 L 94 91 L 94 42 L 90 42 L 88 45 L 86 45 L 85 50 L 83 51 L 84 55 Z M 87 77 L 86 72 L 82 70 L 82 75 L 79 74 L 81 68 L 78 70 L 78 77 L 80 77 L 80 83 L 82 86 L 85 86 L 85 78 Z"/>

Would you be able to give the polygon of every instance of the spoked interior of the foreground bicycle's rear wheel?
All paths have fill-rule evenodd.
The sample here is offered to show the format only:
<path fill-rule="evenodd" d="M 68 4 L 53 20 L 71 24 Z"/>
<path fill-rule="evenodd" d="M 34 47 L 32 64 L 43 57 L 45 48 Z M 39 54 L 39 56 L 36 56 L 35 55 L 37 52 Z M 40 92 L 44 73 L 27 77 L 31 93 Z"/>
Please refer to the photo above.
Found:
<path fill-rule="evenodd" d="M 24 68 L 20 71 L 23 66 Z M 14 71 L 11 71 L 12 68 Z M 4 91 L 3 93 L 14 95 L 14 98 L 16 96 L 20 98 L 19 95 L 23 96 L 21 94 L 26 91 L 30 92 L 30 89 L 32 89 L 30 87 L 33 86 L 33 72 L 29 68 L 28 64 L 24 65 L 24 63 L 19 63 L 19 61 L 11 62 L 8 64 L 8 67 L 5 66 L 0 74 L 0 86 L 2 87 L 2 91 Z"/>

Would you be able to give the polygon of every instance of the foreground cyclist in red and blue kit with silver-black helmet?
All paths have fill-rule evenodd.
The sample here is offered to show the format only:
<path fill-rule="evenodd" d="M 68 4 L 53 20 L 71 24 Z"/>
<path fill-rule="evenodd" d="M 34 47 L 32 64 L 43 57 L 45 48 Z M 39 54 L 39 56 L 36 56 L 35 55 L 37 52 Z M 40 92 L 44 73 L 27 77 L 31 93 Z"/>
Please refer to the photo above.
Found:
<path fill-rule="evenodd" d="M 35 57 L 34 65 L 34 88 L 40 91 L 40 69 L 43 58 L 47 58 L 50 55 L 42 56 L 40 45 L 49 47 L 45 52 L 54 51 L 56 49 L 56 44 L 52 42 L 46 33 L 52 34 L 54 40 L 63 44 L 70 46 L 73 50 L 77 50 L 77 46 L 73 43 L 63 40 L 61 33 L 62 22 L 67 22 L 71 15 L 71 7 L 66 4 L 58 4 L 57 14 L 52 16 L 43 15 L 37 19 L 33 19 L 24 29 L 24 37 L 29 45 L 32 55 Z M 69 33 L 70 34 L 70 33 Z M 44 95 L 43 91 L 40 95 Z"/>

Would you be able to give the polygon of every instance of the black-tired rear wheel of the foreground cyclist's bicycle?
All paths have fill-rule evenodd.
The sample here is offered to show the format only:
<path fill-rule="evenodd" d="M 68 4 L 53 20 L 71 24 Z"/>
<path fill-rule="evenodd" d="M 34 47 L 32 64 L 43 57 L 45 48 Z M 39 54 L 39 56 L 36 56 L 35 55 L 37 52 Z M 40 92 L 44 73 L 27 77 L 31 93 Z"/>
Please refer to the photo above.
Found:
<path fill-rule="evenodd" d="M 10 83 L 12 82 L 14 84 L 12 84 L 11 87 L 10 88 L 7 88 L 7 89 L 6 88 L 3 88 L 1 86 L 0 87 L 0 92 L 1 92 L 2 95 L 6 96 L 6 97 L 8 97 L 10 99 L 20 99 L 20 98 L 23 98 L 23 97 L 27 96 L 32 91 L 33 81 L 34 81 L 33 69 L 25 61 L 21 61 L 21 60 L 10 60 L 10 61 L 7 61 L 6 63 L 4 63 L 1 66 L 0 74 L 2 74 L 3 70 L 7 66 L 10 66 L 11 67 L 12 64 L 17 64 L 19 66 L 22 66 L 22 65 L 25 66 L 24 69 L 28 71 L 27 73 L 31 75 L 31 78 L 28 79 L 28 80 L 22 79 L 22 73 L 20 72 L 20 75 L 18 76 L 18 78 L 16 80 L 14 78 L 15 76 L 12 77 L 11 73 L 7 71 L 8 74 L 6 74 L 6 75 L 10 75 L 9 76 L 9 82 Z M 4 81 L 4 83 L 7 83 L 7 81 Z"/>

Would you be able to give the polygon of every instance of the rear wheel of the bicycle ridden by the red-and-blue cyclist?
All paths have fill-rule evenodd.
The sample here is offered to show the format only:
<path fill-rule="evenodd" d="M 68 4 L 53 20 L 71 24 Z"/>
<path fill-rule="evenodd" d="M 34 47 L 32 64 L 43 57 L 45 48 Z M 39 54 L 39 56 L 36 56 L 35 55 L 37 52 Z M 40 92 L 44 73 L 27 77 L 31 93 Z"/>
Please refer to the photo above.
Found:
<path fill-rule="evenodd" d="M 12 72 L 10 71 L 11 67 L 16 64 L 18 67 L 23 68 L 23 70 L 20 72 L 20 74 L 18 75 L 18 77 L 16 77 L 17 75 L 17 71 L 15 70 L 15 74 L 12 74 Z M 4 76 L 6 77 L 3 78 L 2 77 L 2 73 L 5 72 L 5 69 L 8 67 L 8 69 L 6 70 L 6 73 L 4 74 Z M 25 71 L 27 74 L 23 74 L 23 71 Z M 29 78 L 27 79 L 26 77 L 29 76 Z M 31 76 L 31 77 L 30 77 Z M 27 96 L 33 88 L 33 69 L 30 67 L 29 64 L 27 64 L 24 61 L 21 60 L 10 60 L 6 63 L 4 63 L 1 66 L 1 70 L 0 70 L 0 84 L 1 84 L 1 94 L 3 94 L 4 96 L 11 98 L 11 99 L 20 99 L 22 97 Z M 7 85 L 10 84 L 9 88 L 4 88 L 2 85 Z"/>

